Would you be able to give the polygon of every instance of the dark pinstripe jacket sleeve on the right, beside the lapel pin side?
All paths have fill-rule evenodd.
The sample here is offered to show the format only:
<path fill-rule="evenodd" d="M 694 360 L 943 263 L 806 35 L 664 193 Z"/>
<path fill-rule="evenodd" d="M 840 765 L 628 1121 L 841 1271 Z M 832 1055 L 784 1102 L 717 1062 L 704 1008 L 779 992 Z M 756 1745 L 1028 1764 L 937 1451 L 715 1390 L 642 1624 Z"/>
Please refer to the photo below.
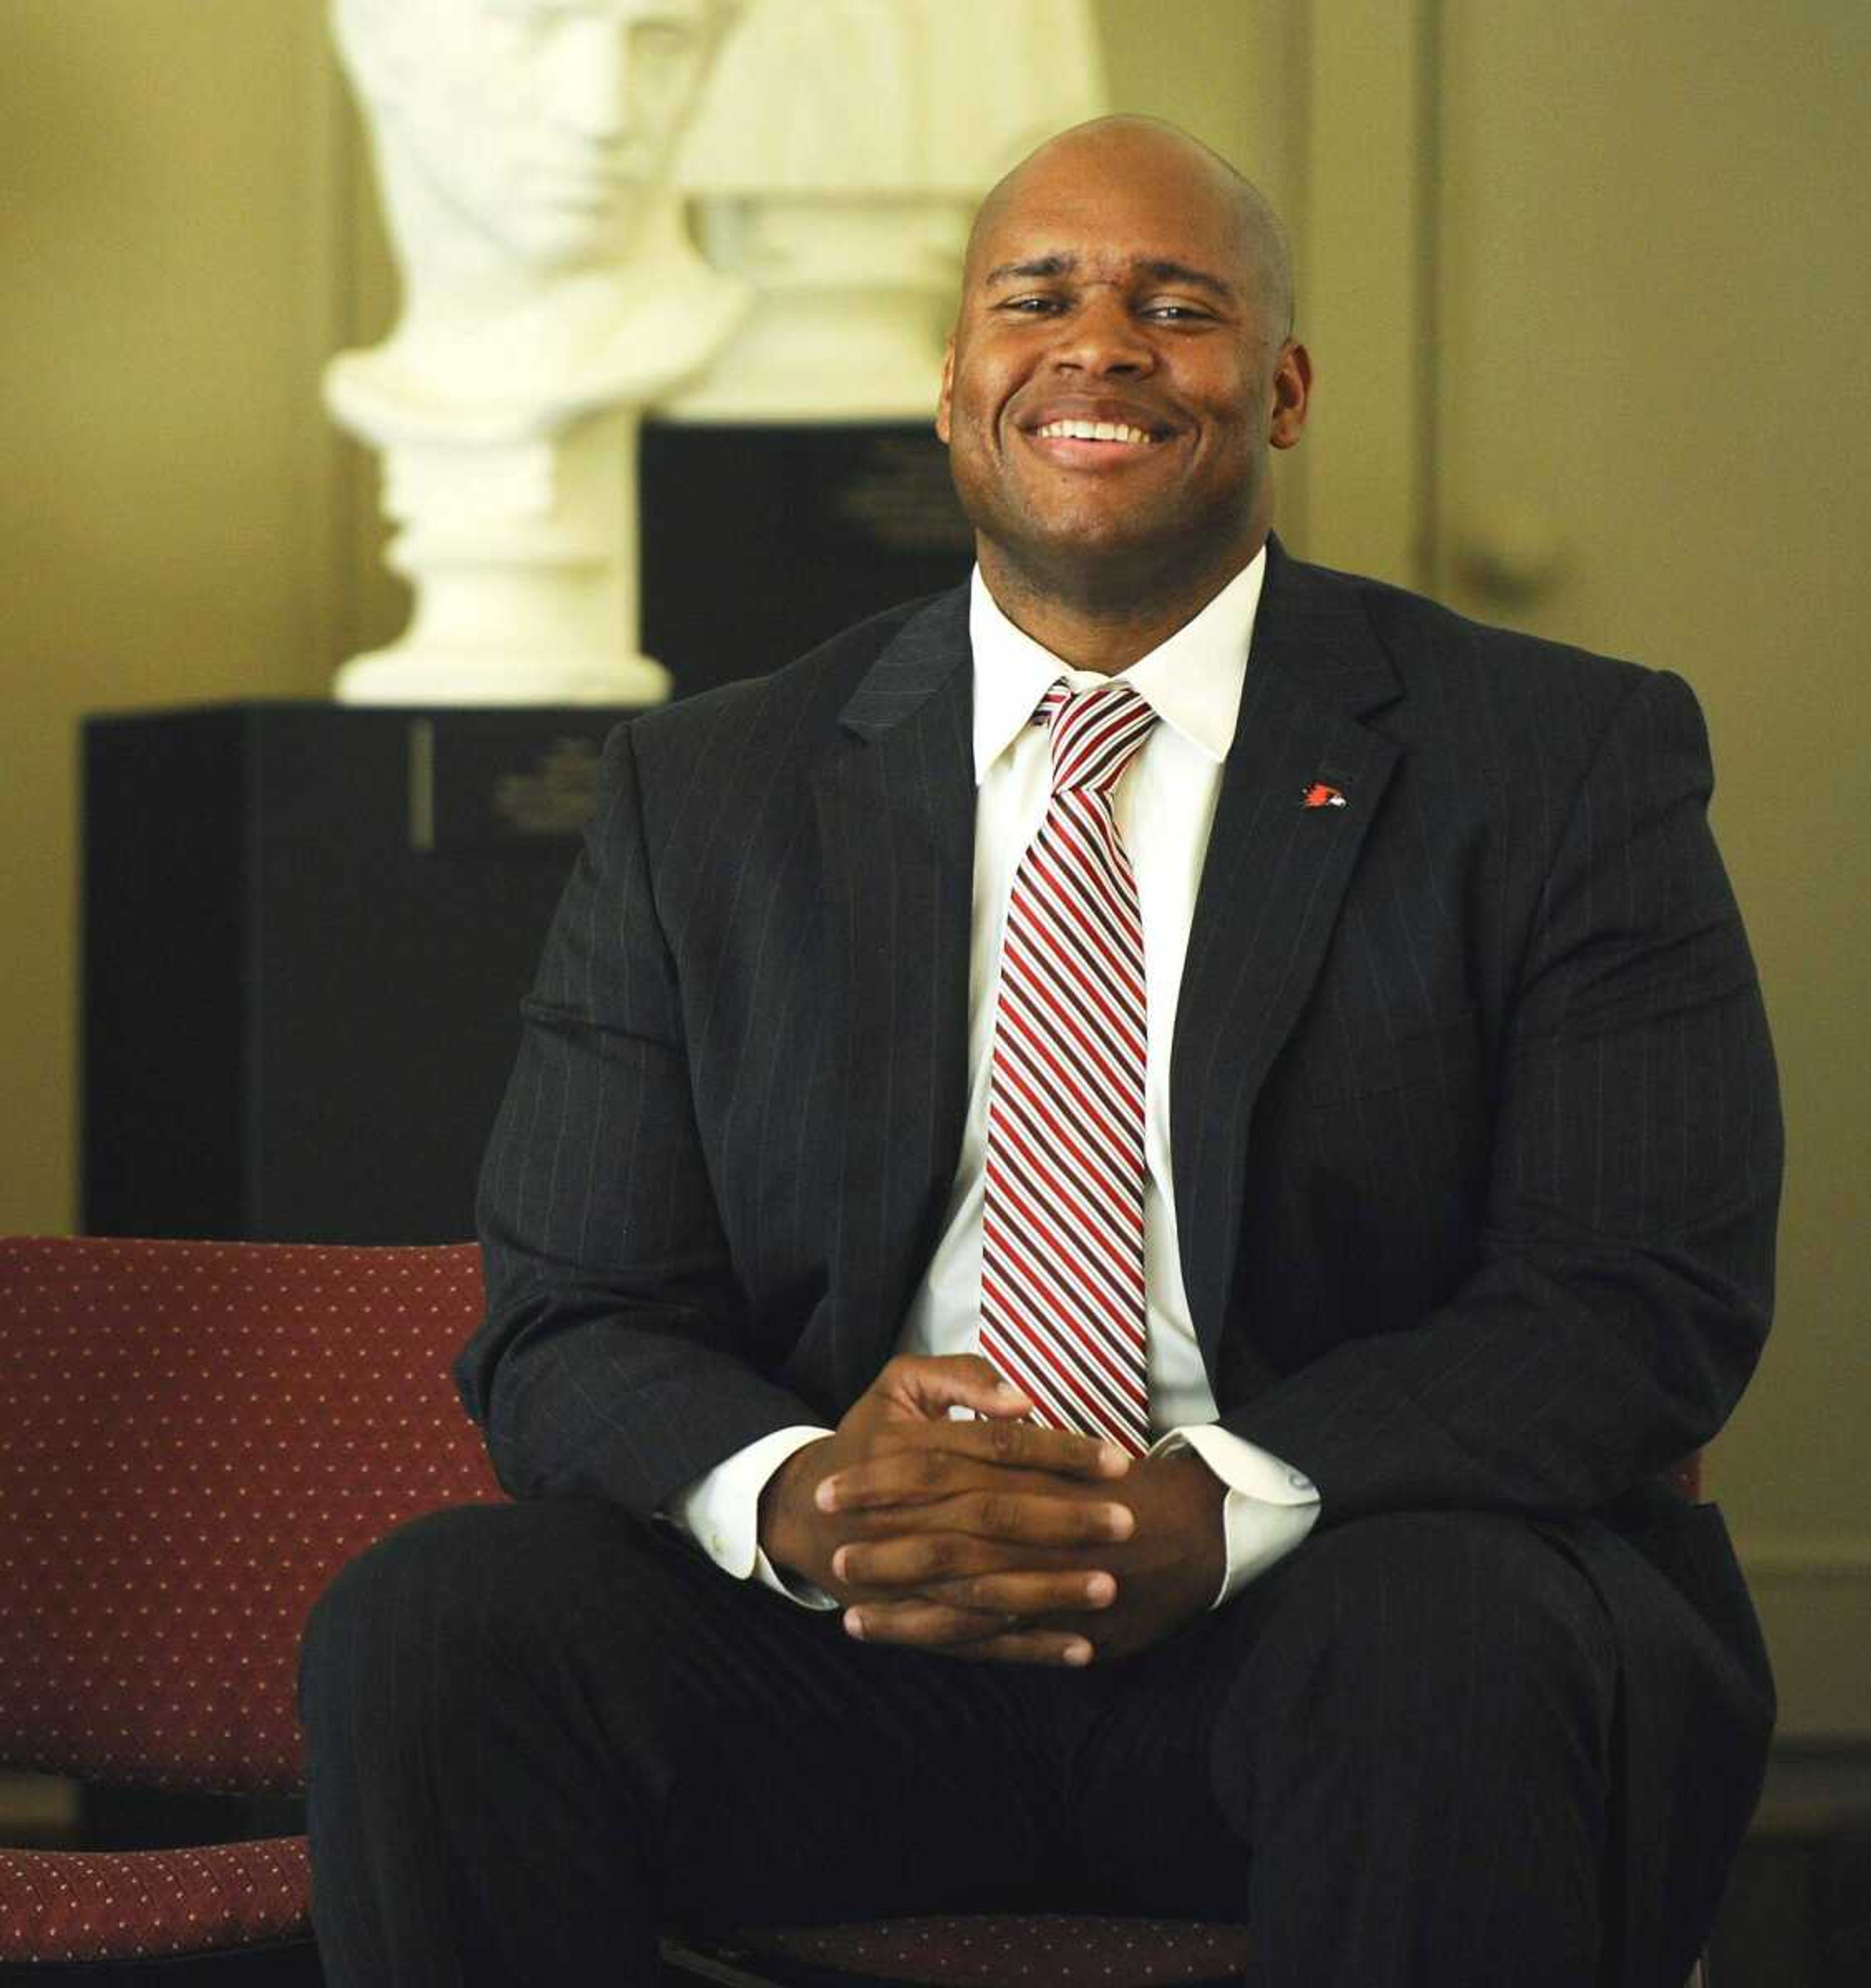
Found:
<path fill-rule="evenodd" d="M 1525 918 L 1471 1274 L 1223 1415 L 1312 1475 L 1322 1523 L 1593 1509 L 1740 1396 L 1772 1306 L 1780 1111 L 1710 785 L 1688 688 L 1636 678 Z"/>

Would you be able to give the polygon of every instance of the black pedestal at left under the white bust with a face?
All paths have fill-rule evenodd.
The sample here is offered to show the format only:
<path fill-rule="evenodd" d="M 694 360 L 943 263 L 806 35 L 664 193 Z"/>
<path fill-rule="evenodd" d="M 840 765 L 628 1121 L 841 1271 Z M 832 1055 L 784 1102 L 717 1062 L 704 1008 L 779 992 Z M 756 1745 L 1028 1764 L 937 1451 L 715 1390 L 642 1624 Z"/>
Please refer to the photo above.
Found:
<path fill-rule="evenodd" d="M 439 1242 L 614 710 L 84 730 L 84 1227 Z"/>

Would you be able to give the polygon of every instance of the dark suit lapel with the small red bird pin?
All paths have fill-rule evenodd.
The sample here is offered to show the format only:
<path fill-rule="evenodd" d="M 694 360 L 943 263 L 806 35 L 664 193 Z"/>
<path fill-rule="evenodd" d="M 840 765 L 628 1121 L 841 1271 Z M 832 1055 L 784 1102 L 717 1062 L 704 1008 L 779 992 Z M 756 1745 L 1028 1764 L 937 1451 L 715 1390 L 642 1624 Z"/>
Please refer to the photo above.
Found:
<path fill-rule="evenodd" d="M 1203 865 L 1169 1072 L 1183 1284 L 1209 1374 L 1267 1070 L 1326 954 L 1396 747 L 1358 718 L 1398 696 L 1356 592 L 1269 545 L 1247 688 Z M 1314 785 L 1344 805 L 1306 807 Z"/>

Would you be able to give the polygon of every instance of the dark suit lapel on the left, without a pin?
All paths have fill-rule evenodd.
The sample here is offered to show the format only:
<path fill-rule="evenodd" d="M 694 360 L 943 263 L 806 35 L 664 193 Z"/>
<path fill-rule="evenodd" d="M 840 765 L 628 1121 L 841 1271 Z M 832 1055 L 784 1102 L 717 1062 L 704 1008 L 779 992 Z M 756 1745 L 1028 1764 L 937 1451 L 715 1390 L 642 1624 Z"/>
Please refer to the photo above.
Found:
<path fill-rule="evenodd" d="M 935 1248 L 968 1099 L 974 885 L 968 590 L 913 616 L 859 684 L 813 779 L 827 1022 L 841 1095 L 831 1183 L 845 1400 L 889 1356 Z"/>

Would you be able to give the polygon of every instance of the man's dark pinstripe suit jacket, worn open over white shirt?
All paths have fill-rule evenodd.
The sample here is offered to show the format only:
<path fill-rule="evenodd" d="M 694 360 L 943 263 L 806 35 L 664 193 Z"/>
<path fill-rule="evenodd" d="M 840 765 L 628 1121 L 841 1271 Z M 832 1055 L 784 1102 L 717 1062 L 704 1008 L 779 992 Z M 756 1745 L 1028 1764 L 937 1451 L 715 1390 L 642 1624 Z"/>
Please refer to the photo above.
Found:
<path fill-rule="evenodd" d="M 1774 1064 L 1708 787 L 1676 678 L 1275 545 L 1171 1139 L 1223 1423 L 1326 1525 L 1527 1513 L 1607 1598 L 1632 1722 L 1694 1722 L 1746 1799 L 1752 1614 L 1714 1513 L 1644 1489 L 1726 1417 L 1772 1288 Z M 962 1131 L 972 823 L 964 590 L 612 738 L 481 1183 L 459 1372 L 509 1489 L 650 1513 L 871 1382 Z M 1632 1799 L 1652 1845 L 1692 1821 Z"/>

